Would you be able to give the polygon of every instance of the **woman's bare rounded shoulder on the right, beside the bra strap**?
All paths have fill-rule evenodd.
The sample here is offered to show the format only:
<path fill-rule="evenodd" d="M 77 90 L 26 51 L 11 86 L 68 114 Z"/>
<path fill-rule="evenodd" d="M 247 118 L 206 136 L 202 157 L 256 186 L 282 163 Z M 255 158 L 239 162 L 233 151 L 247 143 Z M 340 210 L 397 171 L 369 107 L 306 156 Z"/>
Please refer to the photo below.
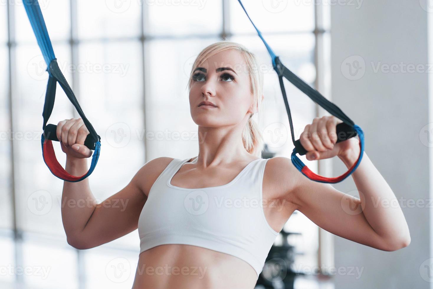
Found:
<path fill-rule="evenodd" d="M 294 189 L 300 184 L 303 175 L 294 167 L 287 157 L 272 157 L 265 166 L 263 187 L 266 187 L 268 198 L 294 198 Z"/>

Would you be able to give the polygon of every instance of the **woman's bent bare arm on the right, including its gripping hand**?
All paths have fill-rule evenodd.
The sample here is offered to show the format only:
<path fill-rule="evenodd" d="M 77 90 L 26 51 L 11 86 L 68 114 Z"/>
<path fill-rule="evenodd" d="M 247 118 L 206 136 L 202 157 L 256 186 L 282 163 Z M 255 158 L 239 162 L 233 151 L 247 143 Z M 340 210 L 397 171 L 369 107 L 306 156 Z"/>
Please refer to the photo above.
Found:
<path fill-rule="evenodd" d="M 334 147 L 329 139 L 322 139 L 329 131 L 335 132 L 335 125 L 329 123 L 324 121 L 320 125 L 315 120 L 312 128 L 306 128 L 320 132 L 320 138 L 312 141 L 307 139 L 303 142 L 301 137 L 301 143 L 309 151 L 307 159 L 312 160 L 313 154 L 315 159 L 338 155 L 350 168 L 359 156 L 359 140 L 349 139 Z M 344 153 L 337 154 L 342 148 Z M 360 199 L 340 192 L 330 184 L 309 180 L 294 167 L 291 169 L 293 175 L 297 176 L 296 185 L 290 192 L 293 202 L 300 212 L 326 231 L 386 251 L 398 250 L 410 244 L 409 228 L 394 192 L 365 152 L 361 163 L 352 173 Z"/>

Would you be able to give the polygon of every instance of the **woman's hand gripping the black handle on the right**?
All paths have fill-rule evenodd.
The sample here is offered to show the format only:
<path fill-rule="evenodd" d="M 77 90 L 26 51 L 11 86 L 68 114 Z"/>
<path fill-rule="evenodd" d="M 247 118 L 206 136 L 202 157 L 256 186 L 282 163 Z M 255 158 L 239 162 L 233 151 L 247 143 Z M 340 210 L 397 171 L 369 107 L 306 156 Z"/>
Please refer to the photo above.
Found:
<path fill-rule="evenodd" d="M 343 156 L 359 145 L 358 138 L 337 141 L 336 126 L 342 123 L 335 116 L 323 116 L 313 119 L 301 133 L 301 144 L 307 151 L 308 161 L 321 160 L 335 156 Z"/>

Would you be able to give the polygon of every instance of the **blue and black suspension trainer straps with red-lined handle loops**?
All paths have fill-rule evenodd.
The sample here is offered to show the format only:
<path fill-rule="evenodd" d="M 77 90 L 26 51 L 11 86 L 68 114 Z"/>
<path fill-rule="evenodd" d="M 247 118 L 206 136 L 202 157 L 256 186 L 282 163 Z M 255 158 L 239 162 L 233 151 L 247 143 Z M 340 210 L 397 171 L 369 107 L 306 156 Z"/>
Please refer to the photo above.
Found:
<path fill-rule="evenodd" d="M 252 25 L 254 26 L 255 30 L 257 31 L 259 37 L 262 39 L 263 43 L 266 46 L 266 49 L 269 52 L 269 55 L 271 56 L 272 60 L 272 66 L 274 70 L 277 72 L 278 79 L 280 82 L 281 87 L 281 93 L 284 99 L 284 104 L 286 107 L 286 111 L 289 118 L 289 124 L 290 124 L 290 130 L 291 130 L 291 138 L 294 144 L 294 149 L 291 154 L 291 161 L 294 164 L 294 166 L 302 173 L 304 176 L 308 177 L 310 180 L 314 180 L 321 183 L 338 183 L 342 180 L 346 179 L 346 177 L 349 177 L 350 174 L 352 174 L 355 169 L 358 167 L 359 163 L 362 160 L 362 154 L 364 152 L 364 133 L 362 132 L 362 129 L 355 125 L 355 123 L 348 117 L 344 112 L 339 109 L 338 106 L 331 103 L 329 100 L 327 100 L 324 96 L 322 96 L 317 90 L 313 89 L 308 85 L 304 80 L 297 77 L 293 72 L 291 72 L 287 67 L 284 66 L 284 64 L 281 63 L 278 56 L 275 55 L 275 53 L 272 51 L 272 49 L 269 47 L 268 43 L 263 39 L 262 33 L 257 29 L 257 27 L 252 22 L 251 18 L 249 17 L 248 13 L 245 10 L 245 7 L 242 5 L 241 0 L 238 0 L 239 4 L 242 6 L 242 9 L 246 13 L 246 16 L 251 21 Z M 33 32 L 35 33 L 36 40 L 38 42 L 39 48 L 42 51 L 42 55 L 45 59 L 45 63 L 47 64 L 47 71 L 49 74 L 48 77 L 48 84 L 47 84 L 47 90 L 45 93 L 45 103 L 44 108 L 42 112 L 43 117 L 43 133 L 41 136 L 41 145 L 42 145 L 42 157 L 44 159 L 45 164 L 48 166 L 49 170 L 58 178 L 61 180 L 65 180 L 68 182 L 79 182 L 81 180 L 84 180 L 86 177 L 90 176 L 90 174 L 93 172 L 94 168 L 96 167 L 99 154 L 100 154 L 100 136 L 97 135 L 95 132 L 93 126 L 89 122 L 89 120 L 84 116 L 84 112 L 82 111 L 80 105 L 78 104 L 77 99 L 74 96 L 74 93 L 71 90 L 71 87 L 69 86 L 68 82 L 66 81 L 65 77 L 61 73 L 61 70 L 57 64 L 57 59 L 55 58 L 54 51 L 52 48 L 51 40 L 48 35 L 47 28 L 45 26 L 45 21 L 42 16 L 41 9 L 39 7 L 38 0 L 26 0 L 23 1 L 24 7 L 27 12 L 27 16 L 29 17 L 30 24 L 32 26 Z M 293 124 L 292 124 L 292 118 L 290 113 L 290 107 L 286 96 L 286 91 L 284 88 L 283 83 L 283 77 L 286 78 L 288 81 L 290 81 L 295 87 L 297 87 L 299 90 L 301 90 L 303 93 L 305 93 L 308 97 L 310 97 L 311 100 L 313 100 L 315 103 L 323 107 L 327 112 L 329 112 L 331 115 L 335 116 L 338 119 L 341 119 L 343 122 L 338 124 L 336 126 L 336 132 L 337 132 L 337 143 L 340 141 L 345 141 L 349 138 L 352 138 L 356 135 L 359 137 L 359 146 L 360 146 L 360 154 L 358 157 L 358 160 L 356 163 L 343 175 L 339 177 L 332 177 L 327 178 L 320 175 L 317 175 L 313 173 L 300 159 L 297 157 L 296 154 L 304 155 L 307 153 L 307 151 L 304 149 L 304 147 L 301 145 L 300 140 L 295 140 L 294 138 L 294 132 L 293 132 Z M 60 84 L 61 88 L 65 91 L 66 96 L 68 96 L 68 99 L 71 101 L 71 103 L 74 105 L 75 109 L 77 109 L 78 114 L 81 116 L 81 119 L 83 119 L 84 125 L 86 126 L 87 130 L 90 132 L 87 135 L 86 140 L 84 141 L 84 145 L 89 148 L 90 150 L 94 150 L 92 162 L 90 165 L 89 170 L 87 173 L 85 173 L 82 176 L 72 176 L 69 174 L 61 165 L 58 163 L 56 157 L 54 148 L 52 145 L 52 141 L 58 141 L 57 135 L 56 135 L 56 125 L 48 124 L 48 119 L 51 116 L 52 109 L 54 106 L 54 100 L 55 100 L 55 92 L 56 92 L 56 85 L 57 82 Z"/>

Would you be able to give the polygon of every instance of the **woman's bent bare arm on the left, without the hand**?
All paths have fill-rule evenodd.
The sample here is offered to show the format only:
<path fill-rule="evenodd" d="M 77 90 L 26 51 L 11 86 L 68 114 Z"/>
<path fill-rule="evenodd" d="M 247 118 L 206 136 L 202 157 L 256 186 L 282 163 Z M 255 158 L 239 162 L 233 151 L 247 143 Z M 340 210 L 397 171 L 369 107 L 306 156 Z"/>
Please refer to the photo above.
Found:
<path fill-rule="evenodd" d="M 146 166 L 147 165 L 147 166 Z M 88 249 L 120 238 L 138 226 L 140 212 L 147 196 L 140 187 L 146 170 L 143 166 L 118 193 L 97 204 L 88 179 L 77 183 L 65 182 L 61 216 L 68 243 L 78 249 Z M 66 170 L 73 175 L 87 172 L 85 159 L 69 161 Z"/>

